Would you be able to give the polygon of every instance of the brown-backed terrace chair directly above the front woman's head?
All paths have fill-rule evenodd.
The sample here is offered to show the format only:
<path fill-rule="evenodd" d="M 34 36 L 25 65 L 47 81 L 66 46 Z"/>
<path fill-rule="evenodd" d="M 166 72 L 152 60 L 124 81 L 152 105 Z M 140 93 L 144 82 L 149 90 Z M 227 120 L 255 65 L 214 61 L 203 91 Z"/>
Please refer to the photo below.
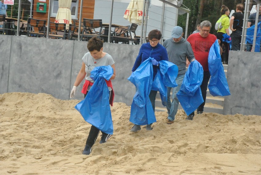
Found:
<path fill-rule="evenodd" d="M 83 30 L 81 33 L 81 41 L 88 41 L 91 37 L 100 38 L 102 35 L 102 20 L 83 18 Z M 97 31 L 96 31 L 97 30 Z M 98 32 L 99 30 L 99 32 Z"/>

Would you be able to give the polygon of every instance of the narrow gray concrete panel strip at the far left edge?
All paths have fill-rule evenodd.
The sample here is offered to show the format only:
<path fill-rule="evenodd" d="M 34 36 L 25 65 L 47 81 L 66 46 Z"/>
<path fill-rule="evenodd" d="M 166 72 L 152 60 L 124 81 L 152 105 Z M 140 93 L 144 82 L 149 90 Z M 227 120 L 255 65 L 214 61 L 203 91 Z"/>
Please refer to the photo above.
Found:
<path fill-rule="evenodd" d="M 0 94 L 8 91 L 9 60 L 12 36 L 0 35 Z"/>

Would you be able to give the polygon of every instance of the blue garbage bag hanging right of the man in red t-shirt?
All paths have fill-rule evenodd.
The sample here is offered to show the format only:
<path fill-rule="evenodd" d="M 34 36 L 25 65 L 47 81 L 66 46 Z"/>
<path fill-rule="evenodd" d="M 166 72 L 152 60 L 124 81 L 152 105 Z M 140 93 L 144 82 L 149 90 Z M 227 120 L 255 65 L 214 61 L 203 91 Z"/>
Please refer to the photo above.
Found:
<path fill-rule="evenodd" d="M 209 51 L 208 69 L 211 75 L 208 84 L 210 94 L 213 96 L 230 95 L 224 67 L 221 62 L 220 48 L 217 40 L 211 46 Z"/>

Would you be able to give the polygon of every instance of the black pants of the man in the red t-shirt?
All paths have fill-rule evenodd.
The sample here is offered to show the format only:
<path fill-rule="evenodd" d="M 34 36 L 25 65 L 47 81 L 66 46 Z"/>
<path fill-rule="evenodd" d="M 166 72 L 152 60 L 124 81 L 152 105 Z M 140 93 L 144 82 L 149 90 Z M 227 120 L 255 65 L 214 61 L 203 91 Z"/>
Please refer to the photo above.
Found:
<path fill-rule="evenodd" d="M 201 105 L 199 105 L 199 107 L 197 108 L 197 111 L 204 111 L 204 106 L 205 106 L 205 103 L 206 103 L 206 91 L 207 91 L 207 86 L 208 86 L 209 79 L 210 79 L 209 71 L 204 71 L 203 72 L 202 84 L 200 85 L 202 98 L 203 98 L 204 102 L 201 103 Z M 195 112 L 192 112 L 191 114 L 194 115 Z"/>

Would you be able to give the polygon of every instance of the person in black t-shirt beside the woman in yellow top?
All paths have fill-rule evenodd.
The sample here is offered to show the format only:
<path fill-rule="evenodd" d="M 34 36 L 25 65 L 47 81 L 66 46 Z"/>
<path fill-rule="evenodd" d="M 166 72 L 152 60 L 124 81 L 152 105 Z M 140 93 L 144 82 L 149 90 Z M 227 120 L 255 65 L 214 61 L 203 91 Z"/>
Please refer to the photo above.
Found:
<path fill-rule="evenodd" d="M 243 18 L 244 18 L 244 14 L 242 13 L 243 10 L 244 10 L 243 4 L 237 4 L 236 12 L 232 14 L 232 17 L 229 22 L 229 28 L 230 30 L 232 30 L 232 33 L 230 35 L 232 40 L 231 50 L 240 50 Z"/>

